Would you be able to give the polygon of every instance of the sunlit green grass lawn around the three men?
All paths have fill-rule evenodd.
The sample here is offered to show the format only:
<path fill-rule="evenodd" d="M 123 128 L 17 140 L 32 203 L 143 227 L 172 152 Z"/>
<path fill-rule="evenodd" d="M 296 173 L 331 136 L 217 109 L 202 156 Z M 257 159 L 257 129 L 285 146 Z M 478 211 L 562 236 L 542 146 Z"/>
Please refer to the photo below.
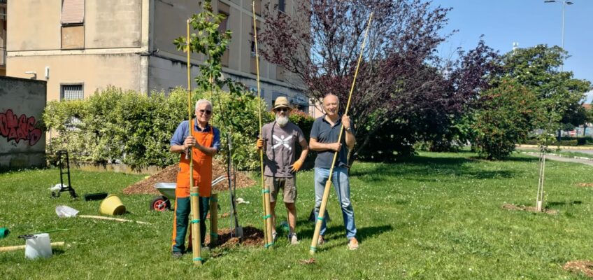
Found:
<path fill-rule="evenodd" d="M 122 218 L 152 225 L 58 218 L 65 204 L 80 214 L 99 214 L 99 202 L 71 201 L 64 193 L 50 198 L 59 182 L 57 169 L 0 174 L 0 227 L 12 234 L 0 246 L 22 245 L 17 235 L 57 228 L 52 241 L 66 241 L 52 258 L 26 260 L 24 251 L 0 253 L 3 279 L 584 279 L 562 269 L 569 260 L 593 259 L 593 188 L 590 167 L 549 161 L 546 205 L 559 214 L 501 209 L 505 203 L 533 206 L 538 159 L 514 155 L 490 162 L 473 153 L 421 153 L 396 164 L 355 163 L 352 202 L 361 246 L 348 251 L 341 212 L 332 191 L 327 244 L 315 263 L 303 265 L 314 225 L 306 221 L 313 207 L 313 172 L 298 177 L 298 246 L 280 237 L 273 250 L 215 249 L 201 267 L 190 254 L 170 257 L 173 213 L 148 210 L 151 195 L 122 195 L 143 176 L 72 172 L 76 191 L 120 195 L 130 213 Z M 237 191 L 250 201 L 240 204 L 240 223 L 262 228 L 257 187 Z M 229 209 L 220 194 L 221 213 Z M 278 221 L 285 220 L 283 205 Z M 228 228 L 228 218 L 219 220 Z"/>

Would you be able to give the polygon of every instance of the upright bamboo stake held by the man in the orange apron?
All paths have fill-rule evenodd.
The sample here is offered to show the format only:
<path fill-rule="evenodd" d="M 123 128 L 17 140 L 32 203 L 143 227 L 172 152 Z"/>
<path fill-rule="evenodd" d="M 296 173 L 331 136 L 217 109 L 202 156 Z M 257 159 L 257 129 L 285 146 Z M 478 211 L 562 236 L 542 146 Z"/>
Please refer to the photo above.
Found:
<path fill-rule="evenodd" d="M 194 131 L 194 127 L 192 127 L 192 78 L 191 78 L 191 71 L 190 67 L 192 66 L 192 62 L 190 60 L 190 20 L 187 20 L 187 38 L 185 42 L 187 43 L 186 51 L 187 51 L 187 126 L 189 130 L 187 130 L 187 136 L 192 136 L 192 132 Z M 198 210 L 198 195 L 199 195 L 199 187 L 194 187 L 194 156 L 192 153 L 192 148 L 187 150 L 187 154 L 190 155 L 190 203 L 192 208 L 192 253 L 193 253 L 193 260 L 194 265 L 201 265 L 202 264 L 202 244 L 200 242 L 201 232 L 200 232 L 200 213 Z"/>

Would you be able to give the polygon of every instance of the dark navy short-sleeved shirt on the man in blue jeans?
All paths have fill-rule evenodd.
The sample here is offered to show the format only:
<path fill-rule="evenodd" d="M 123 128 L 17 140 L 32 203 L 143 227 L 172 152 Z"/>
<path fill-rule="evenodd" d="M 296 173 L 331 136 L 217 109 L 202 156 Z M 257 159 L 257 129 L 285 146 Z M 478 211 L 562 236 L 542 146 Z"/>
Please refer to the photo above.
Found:
<path fill-rule="evenodd" d="M 350 121 L 350 125 L 352 125 L 352 121 Z M 338 136 L 340 135 L 340 128 L 342 127 L 342 116 L 338 118 L 334 126 L 332 127 L 327 120 L 325 120 L 325 115 L 315 119 L 313 122 L 313 127 L 311 127 L 311 134 L 310 137 L 316 139 L 319 143 L 336 143 L 338 141 Z M 354 128 L 352 127 L 352 133 L 354 133 Z M 338 153 L 338 158 L 336 158 L 336 167 L 340 166 L 348 166 L 348 146 L 346 146 L 345 141 L 346 132 L 342 133 L 342 148 L 340 149 L 340 153 Z M 331 168 L 331 161 L 334 160 L 334 151 L 326 150 L 317 152 L 317 158 L 315 158 L 315 167 L 330 169 Z"/>

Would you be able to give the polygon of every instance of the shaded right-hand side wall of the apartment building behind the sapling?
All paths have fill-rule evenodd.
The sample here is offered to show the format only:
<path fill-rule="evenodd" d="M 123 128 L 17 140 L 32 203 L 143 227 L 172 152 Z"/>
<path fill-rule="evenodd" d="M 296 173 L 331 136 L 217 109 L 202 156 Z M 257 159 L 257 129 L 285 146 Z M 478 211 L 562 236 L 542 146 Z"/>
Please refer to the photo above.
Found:
<path fill-rule="evenodd" d="M 229 18 L 227 28 L 233 31 L 232 40 L 229 45 L 229 66 L 223 67 L 224 76 L 229 76 L 238 82 L 256 88 L 255 59 L 251 54 L 252 41 L 252 10 L 250 0 L 214 0 L 213 10 L 218 11 L 219 2 L 229 6 Z M 269 0 L 262 1 L 262 8 Z M 273 0 L 271 5 L 278 3 Z M 294 6 L 293 1 L 286 1 L 287 11 Z M 172 87 L 187 87 L 186 78 L 186 60 L 184 52 L 176 50 L 173 40 L 186 34 L 186 20 L 193 13 L 199 13 L 197 1 L 190 0 L 155 0 L 155 13 L 153 15 L 154 25 L 151 26 L 153 40 L 153 49 L 158 52 L 149 59 L 148 80 L 149 90 L 169 90 Z M 260 30 L 263 29 L 263 19 L 258 17 Z M 190 32 L 194 33 L 191 29 Z M 261 49 L 262 46 L 260 45 Z M 203 57 L 192 55 L 192 81 L 193 77 L 199 75 L 199 69 L 196 65 L 203 63 Z M 279 95 L 284 95 L 294 99 L 296 95 L 301 95 L 296 86 L 286 83 L 285 80 L 278 80 L 277 66 L 260 59 L 259 71 L 262 80 L 261 88 L 268 106 L 271 106 L 273 99 Z M 290 74 L 285 75 L 287 80 L 292 78 Z M 192 87 L 195 88 L 195 83 Z M 307 106 L 308 102 L 303 96 L 299 97 L 300 104 Z"/>

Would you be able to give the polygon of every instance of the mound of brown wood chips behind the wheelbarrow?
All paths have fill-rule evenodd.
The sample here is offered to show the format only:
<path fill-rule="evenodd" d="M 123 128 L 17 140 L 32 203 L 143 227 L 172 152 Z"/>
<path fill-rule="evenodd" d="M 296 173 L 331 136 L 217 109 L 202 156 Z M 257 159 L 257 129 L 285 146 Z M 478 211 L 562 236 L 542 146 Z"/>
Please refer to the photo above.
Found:
<path fill-rule="evenodd" d="M 131 194 L 148 194 L 159 195 L 159 191 L 155 188 L 155 183 L 175 183 L 177 181 L 178 165 L 170 165 L 155 175 L 152 175 L 142 181 L 134 183 L 127 188 L 124 188 L 125 195 Z M 212 161 L 212 178 L 216 179 L 219 176 L 227 176 L 227 165 L 220 160 Z M 247 188 L 255 185 L 249 176 L 243 172 L 236 174 L 236 188 Z M 224 180 L 217 183 L 212 188 L 213 192 L 220 192 L 221 190 L 229 190 L 229 181 Z"/>

